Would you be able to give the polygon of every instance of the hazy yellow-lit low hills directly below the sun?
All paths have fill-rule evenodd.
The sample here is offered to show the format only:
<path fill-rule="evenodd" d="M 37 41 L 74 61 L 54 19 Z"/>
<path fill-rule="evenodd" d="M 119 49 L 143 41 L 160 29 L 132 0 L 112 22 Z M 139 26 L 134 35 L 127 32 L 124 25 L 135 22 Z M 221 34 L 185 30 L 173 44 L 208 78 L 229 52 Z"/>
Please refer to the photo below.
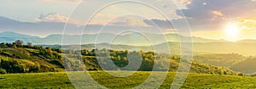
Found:
<path fill-rule="evenodd" d="M 171 50 L 172 52 L 179 52 L 179 42 L 168 42 L 170 49 L 163 47 L 166 43 L 156 45 L 162 47 L 161 52 Z M 186 45 L 186 43 L 183 43 Z M 216 53 L 239 53 L 246 56 L 256 55 L 255 45 L 256 42 L 193 42 L 193 53 L 194 54 L 216 54 Z M 177 53 L 179 54 L 179 53 Z"/>

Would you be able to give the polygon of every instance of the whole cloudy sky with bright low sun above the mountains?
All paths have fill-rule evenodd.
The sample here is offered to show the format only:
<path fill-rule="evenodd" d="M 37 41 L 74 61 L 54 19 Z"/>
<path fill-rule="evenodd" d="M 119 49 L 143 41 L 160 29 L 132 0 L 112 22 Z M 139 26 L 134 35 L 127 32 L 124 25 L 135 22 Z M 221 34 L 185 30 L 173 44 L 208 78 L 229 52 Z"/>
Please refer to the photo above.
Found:
<path fill-rule="evenodd" d="M 192 36 L 229 41 L 256 39 L 256 0 L 117 1 L 2 0 L 0 32 L 44 37 L 62 34 L 67 22 L 65 34 L 134 30 L 191 32 Z"/>

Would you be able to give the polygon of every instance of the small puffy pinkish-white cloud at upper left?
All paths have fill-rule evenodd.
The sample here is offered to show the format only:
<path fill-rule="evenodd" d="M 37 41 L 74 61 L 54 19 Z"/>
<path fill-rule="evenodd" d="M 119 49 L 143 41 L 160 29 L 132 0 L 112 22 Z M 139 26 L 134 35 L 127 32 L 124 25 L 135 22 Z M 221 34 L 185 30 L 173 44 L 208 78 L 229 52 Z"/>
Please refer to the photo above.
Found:
<path fill-rule="evenodd" d="M 37 19 L 37 21 L 45 21 L 45 22 L 66 22 L 67 17 L 61 16 L 61 14 L 50 13 L 50 14 L 41 14 Z"/>

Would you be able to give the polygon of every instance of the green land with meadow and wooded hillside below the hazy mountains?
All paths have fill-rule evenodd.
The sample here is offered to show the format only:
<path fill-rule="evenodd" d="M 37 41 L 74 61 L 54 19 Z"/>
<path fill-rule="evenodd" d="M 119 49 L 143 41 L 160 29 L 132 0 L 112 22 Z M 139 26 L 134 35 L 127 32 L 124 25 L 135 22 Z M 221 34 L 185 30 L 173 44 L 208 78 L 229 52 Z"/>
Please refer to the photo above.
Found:
<path fill-rule="evenodd" d="M 93 87 L 119 89 L 140 88 L 137 86 L 142 85 L 143 88 L 151 88 L 154 85 L 160 85 L 160 89 L 166 89 L 171 88 L 172 81 L 176 78 L 177 68 L 186 67 L 190 65 L 190 62 L 190 74 L 184 82 L 179 82 L 182 84 L 181 88 L 256 88 L 256 77 L 245 76 L 256 75 L 253 73 L 255 70 L 252 70 L 256 68 L 253 64 L 256 58 L 238 53 L 198 54 L 194 55 L 194 61 L 185 61 L 181 60 L 179 55 L 150 51 L 67 50 L 16 44 L 0 43 L 0 88 L 73 89 L 101 85 Z M 107 64 L 113 61 L 116 66 L 124 68 L 130 64 L 128 55 L 130 55 L 129 59 L 139 60 L 142 63 L 131 63 L 132 65 L 127 67 L 126 71 L 120 71 L 114 66 L 102 69 L 98 64 Z M 170 65 L 166 64 L 168 62 Z M 184 64 L 180 64 L 180 62 Z M 154 66 L 154 64 L 158 66 Z M 138 69 L 136 69 L 136 65 L 140 65 Z M 116 76 L 103 71 L 113 69 L 115 71 L 109 72 Z M 92 81 L 84 75 L 84 72 L 81 72 L 84 70 L 89 70 L 88 74 L 96 82 L 84 82 Z M 245 74 L 246 72 L 242 70 L 247 70 L 247 73 L 250 74 Z M 168 71 L 166 77 L 163 71 Z M 152 72 L 156 73 L 154 77 L 152 77 Z M 123 74 L 131 75 L 120 77 Z M 153 79 L 148 81 L 148 77 Z M 145 84 L 145 82 L 149 83 Z"/>

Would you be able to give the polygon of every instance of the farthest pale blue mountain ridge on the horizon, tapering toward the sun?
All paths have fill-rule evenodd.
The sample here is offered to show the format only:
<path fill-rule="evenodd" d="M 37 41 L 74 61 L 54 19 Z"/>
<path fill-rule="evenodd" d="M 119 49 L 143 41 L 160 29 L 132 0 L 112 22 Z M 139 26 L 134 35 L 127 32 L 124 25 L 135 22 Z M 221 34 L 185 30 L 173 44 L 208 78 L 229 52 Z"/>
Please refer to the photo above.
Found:
<path fill-rule="evenodd" d="M 112 44 L 124 44 L 132 46 L 148 46 L 156 45 L 164 42 L 179 42 L 180 39 L 190 39 L 188 36 L 181 36 L 177 34 L 153 34 L 146 33 L 145 36 L 138 33 L 129 33 L 124 35 L 115 36 L 110 33 L 101 34 L 84 34 L 79 35 L 64 35 L 63 44 L 73 45 L 73 44 L 90 44 L 90 43 L 112 43 Z M 78 40 L 79 39 L 79 40 Z M 204 39 L 201 37 L 192 37 L 193 42 L 226 42 L 223 40 L 212 40 Z M 6 31 L 0 33 L 0 42 L 15 42 L 15 40 L 22 40 L 24 42 L 32 42 L 34 44 L 44 44 L 44 45 L 54 45 L 61 44 L 62 35 L 53 34 L 46 36 L 44 38 L 38 36 L 29 36 L 24 34 L 19 34 L 11 31 Z"/>

